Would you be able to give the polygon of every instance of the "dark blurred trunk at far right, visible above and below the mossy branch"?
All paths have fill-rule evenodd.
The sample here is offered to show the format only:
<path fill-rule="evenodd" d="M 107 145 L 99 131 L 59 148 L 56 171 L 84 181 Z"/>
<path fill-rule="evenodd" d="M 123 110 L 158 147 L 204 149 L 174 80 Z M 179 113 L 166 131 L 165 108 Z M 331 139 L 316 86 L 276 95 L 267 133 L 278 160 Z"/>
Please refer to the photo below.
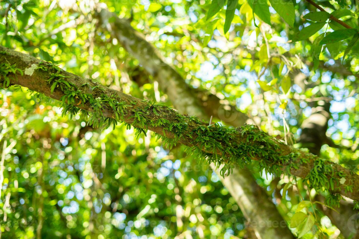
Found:
<path fill-rule="evenodd" d="M 327 128 L 330 104 L 326 103 L 324 106 L 317 106 L 313 108 L 311 116 L 305 119 L 300 126 L 302 134 L 299 138 L 299 143 L 302 147 L 308 148 L 309 152 L 320 155 L 320 149 L 323 144 L 327 142 Z M 316 200 L 325 202 L 322 195 L 317 195 Z M 358 210 L 353 209 L 353 204 L 347 201 L 341 201 L 340 207 L 335 207 L 335 210 L 330 209 L 324 205 L 319 206 L 324 214 L 331 220 L 345 238 L 358 239 L 359 230 L 357 226 Z"/>

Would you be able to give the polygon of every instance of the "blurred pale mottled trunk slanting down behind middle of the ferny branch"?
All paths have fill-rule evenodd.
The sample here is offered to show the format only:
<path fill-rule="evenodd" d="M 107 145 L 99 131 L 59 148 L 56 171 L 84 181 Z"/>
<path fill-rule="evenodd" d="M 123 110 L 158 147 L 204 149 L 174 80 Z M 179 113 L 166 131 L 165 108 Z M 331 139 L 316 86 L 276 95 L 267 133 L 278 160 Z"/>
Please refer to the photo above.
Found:
<path fill-rule="evenodd" d="M 139 60 L 144 69 L 154 77 L 154 80 L 159 82 L 161 90 L 168 95 L 180 113 L 196 115 L 205 120 L 209 120 L 210 116 L 214 115 L 235 127 L 242 126 L 248 119 L 234 106 L 221 104 L 220 99 L 215 95 L 188 86 L 176 70 L 163 62 L 155 48 L 131 27 L 127 19 L 118 18 L 116 14 L 109 13 L 103 8 L 98 11 L 98 18 L 104 27 L 119 40 L 126 51 Z M 109 23 L 109 19 L 112 19 L 111 23 Z M 211 167 L 216 170 L 214 164 L 211 164 Z M 218 176 L 236 199 L 247 220 L 252 222 L 249 225 L 259 221 L 282 222 L 282 227 L 279 228 L 275 228 L 272 224 L 253 226 L 257 238 L 267 238 L 268 236 L 271 238 L 293 238 L 275 205 L 270 201 L 264 189 L 257 185 L 247 169 L 236 168 L 225 179 L 219 173 Z"/>

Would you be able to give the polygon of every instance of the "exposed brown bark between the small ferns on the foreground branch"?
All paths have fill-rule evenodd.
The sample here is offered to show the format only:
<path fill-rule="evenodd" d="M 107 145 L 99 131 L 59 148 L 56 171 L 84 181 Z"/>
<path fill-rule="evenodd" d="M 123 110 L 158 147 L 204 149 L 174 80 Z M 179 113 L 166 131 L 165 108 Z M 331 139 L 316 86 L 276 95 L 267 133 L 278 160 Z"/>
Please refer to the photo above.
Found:
<path fill-rule="evenodd" d="M 9 72 L 7 75 L 3 75 L 0 79 L 0 83 L 4 83 L 4 78 L 8 78 L 10 81 L 10 85 L 20 85 L 27 87 L 30 90 L 37 91 L 40 93 L 43 93 L 53 99 L 60 100 L 62 96 L 64 96 L 64 92 L 62 92 L 61 89 L 58 87 L 55 88 L 55 90 L 51 91 L 51 85 L 48 83 L 48 79 L 51 77 L 52 73 L 60 73 L 61 75 L 65 76 L 66 78 L 63 79 L 63 81 L 66 81 L 68 83 L 71 83 L 75 87 L 77 87 L 79 90 L 81 89 L 86 94 L 91 94 L 94 98 L 98 97 L 99 95 L 106 95 L 111 99 L 121 99 L 123 102 L 127 103 L 128 105 L 131 105 L 131 111 L 127 111 L 123 117 L 121 118 L 121 121 L 129 124 L 134 124 L 134 115 L 138 112 L 142 112 L 144 115 L 146 115 L 148 118 L 152 119 L 153 121 L 159 121 L 162 119 L 165 119 L 169 122 L 181 122 L 184 121 L 186 124 L 185 131 L 181 132 L 180 136 L 177 136 L 177 143 L 187 145 L 189 147 L 199 147 L 199 144 L 195 144 L 196 135 L 194 132 L 196 132 L 200 127 L 204 127 L 211 132 L 211 130 L 215 130 L 215 127 L 209 127 L 208 123 L 206 122 L 200 122 L 197 121 L 189 116 L 184 116 L 179 114 L 177 111 L 169 108 L 169 107 L 158 107 L 158 112 L 155 114 L 152 112 L 152 110 L 145 110 L 149 107 L 149 102 L 145 100 L 137 99 L 136 97 L 126 95 L 122 92 L 109 89 L 106 86 L 99 85 L 98 83 L 94 83 L 91 81 L 91 79 L 85 79 L 79 76 L 76 76 L 72 73 L 66 72 L 64 70 L 55 70 L 54 66 L 48 66 L 47 70 L 41 70 L 36 69 L 36 66 L 40 64 L 40 62 L 43 62 L 39 59 L 36 59 L 34 57 L 31 57 L 27 54 L 23 54 L 20 52 L 16 52 L 13 50 L 10 50 L 8 48 L 5 48 L 3 46 L 0 46 L 0 62 L 7 62 L 10 65 L 16 65 L 17 68 L 21 69 L 24 74 L 22 74 L 20 71 Z M 33 71 L 29 69 L 35 69 Z M 88 111 L 94 111 L 92 108 L 93 105 L 89 104 L 89 102 L 82 102 L 82 104 L 79 104 L 79 102 L 76 102 L 76 104 L 71 104 L 74 107 L 78 107 L 83 110 Z M 115 112 L 112 110 L 111 107 L 104 104 L 104 110 L 103 110 L 103 116 L 109 117 L 115 119 Z M 142 128 L 145 130 L 151 130 L 158 135 L 162 135 L 164 138 L 174 139 L 176 137 L 176 134 L 173 130 L 166 129 L 161 125 L 153 125 L 153 124 L 145 124 L 143 126 L 135 125 L 137 128 Z M 224 130 L 226 130 L 226 127 L 223 127 Z M 221 147 L 227 149 L 227 148 L 237 148 L 241 149 L 242 147 L 252 147 L 253 149 L 256 147 L 260 147 L 261 144 L 258 142 L 261 142 L 261 139 L 258 140 L 247 140 L 246 135 L 242 135 L 241 130 L 238 129 L 236 132 L 231 131 L 231 137 L 227 141 L 224 141 L 222 139 L 213 138 L 213 140 L 216 142 L 216 144 L 221 145 Z M 265 135 L 265 133 L 261 133 L 261 135 Z M 267 136 L 266 136 L 267 137 Z M 318 159 L 317 156 L 314 156 L 311 153 L 307 153 L 305 151 L 298 151 L 294 149 L 293 147 L 290 147 L 289 145 L 285 145 L 278 140 L 274 138 L 269 138 L 268 140 L 271 140 L 271 144 L 275 145 L 275 147 L 278 147 L 278 155 L 281 157 L 289 157 L 290 154 L 299 154 L 296 157 L 293 157 L 291 161 L 289 162 L 281 162 L 276 161 L 275 159 L 271 158 L 271 156 L 268 156 L 268 160 L 272 161 L 266 161 L 266 163 L 270 163 L 271 165 L 280 166 L 283 169 L 283 172 L 287 172 L 289 175 L 297 176 L 301 178 L 306 178 L 306 176 L 312 171 L 314 165 L 314 161 Z M 261 150 L 267 152 L 266 150 L 269 150 L 266 147 L 260 147 Z M 244 148 L 243 148 L 244 149 Z M 208 155 L 213 154 L 215 156 L 219 157 L 219 162 L 224 163 L 223 158 L 226 159 L 228 157 L 227 154 L 222 154 L 220 150 L 212 150 L 212 149 L 206 149 L 205 147 L 200 148 L 203 152 L 207 153 Z M 248 152 L 249 153 L 249 152 Z M 249 155 L 248 155 L 249 156 Z M 257 156 L 251 156 L 252 160 L 258 161 L 260 158 Z M 306 159 L 306 161 L 303 162 L 302 159 Z M 238 162 L 241 161 L 241 158 L 238 158 Z M 334 178 L 337 181 L 340 181 L 343 177 L 345 179 L 345 182 L 343 184 L 335 183 L 334 189 L 327 188 L 328 191 L 332 193 L 340 193 L 343 196 L 349 197 L 353 200 L 359 200 L 359 191 L 353 190 L 353 192 L 345 190 L 346 186 L 355 186 L 359 183 L 359 175 L 351 173 L 349 169 L 346 169 L 339 164 L 336 164 L 334 162 L 325 161 L 326 166 L 329 168 L 332 168 L 332 172 L 340 172 L 342 176 L 337 175 L 336 173 L 334 175 L 326 175 L 327 179 L 330 180 L 330 178 Z M 286 168 L 289 165 L 296 166 L 297 168 Z M 268 166 L 270 167 L 270 166 Z M 311 179 L 308 179 L 309 183 L 311 183 Z"/>

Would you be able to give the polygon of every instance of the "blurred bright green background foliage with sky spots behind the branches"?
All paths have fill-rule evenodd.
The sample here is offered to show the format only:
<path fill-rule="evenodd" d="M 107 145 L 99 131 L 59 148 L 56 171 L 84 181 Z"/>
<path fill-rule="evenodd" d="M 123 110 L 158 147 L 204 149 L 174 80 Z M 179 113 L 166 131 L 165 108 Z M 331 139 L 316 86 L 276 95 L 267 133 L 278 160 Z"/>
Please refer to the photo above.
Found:
<path fill-rule="evenodd" d="M 354 42 L 350 54 L 345 54 L 350 38 L 322 46 L 323 33 L 336 30 L 324 22 L 312 23 L 322 24 L 312 35 L 300 35 L 311 20 L 322 21 L 308 16 L 316 8 L 306 1 L 293 1 L 295 18 L 285 21 L 269 3 L 270 15 L 261 16 L 256 10 L 253 14 L 253 2 L 239 0 L 230 13 L 231 24 L 226 24 L 224 3 L 208 18 L 210 1 L 106 1 L 110 11 L 145 34 L 188 84 L 236 105 L 262 130 L 288 144 L 301 147 L 296 143 L 301 123 L 315 107 L 329 102 L 328 142 L 321 156 L 356 170 L 359 45 Z M 345 4 L 350 14 L 340 19 L 354 27 L 358 6 Z M 336 1 L 321 5 L 330 13 L 341 7 Z M 91 1 L 80 0 L 1 1 L 0 44 L 126 94 L 171 105 L 137 59 L 99 28 L 90 6 Z M 302 38 L 294 42 L 294 37 Z M 250 235 L 219 178 L 181 147 L 169 151 L 151 134 L 137 140 L 123 125 L 92 128 L 82 115 L 62 118 L 56 102 L 25 89 L 0 93 L 3 238 Z M 215 120 L 226 124 L 236 118 L 233 114 Z M 312 199 L 300 180 L 252 170 L 285 220 L 301 211 L 296 212 L 301 200 Z M 311 225 L 315 208 L 315 224 L 304 238 L 319 233 L 336 238 L 336 227 L 317 204 L 309 205 L 302 212 Z"/>

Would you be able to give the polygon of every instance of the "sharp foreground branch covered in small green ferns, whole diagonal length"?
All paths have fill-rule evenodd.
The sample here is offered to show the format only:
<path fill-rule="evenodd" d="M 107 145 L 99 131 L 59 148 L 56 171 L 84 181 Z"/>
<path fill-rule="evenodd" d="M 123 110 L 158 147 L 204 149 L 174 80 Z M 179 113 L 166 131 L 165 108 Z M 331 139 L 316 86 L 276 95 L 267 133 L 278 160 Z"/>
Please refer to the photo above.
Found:
<path fill-rule="evenodd" d="M 139 132 L 151 130 L 169 147 L 187 146 L 187 152 L 216 165 L 222 175 L 234 166 L 256 163 L 272 173 L 304 178 L 309 187 L 328 191 L 333 203 L 340 194 L 359 200 L 359 175 L 339 164 L 325 161 L 305 150 L 297 150 L 269 137 L 255 126 L 228 128 L 209 126 L 170 107 L 137 99 L 72 73 L 0 46 L 0 83 L 20 85 L 63 102 L 65 113 L 80 109 L 92 124 L 122 121 Z M 55 82 L 57 82 L 55 84 Z M 54 86 L 55 85 L 55 86 Z M 116 119 L 116 120 L 115 120 Z"/>

